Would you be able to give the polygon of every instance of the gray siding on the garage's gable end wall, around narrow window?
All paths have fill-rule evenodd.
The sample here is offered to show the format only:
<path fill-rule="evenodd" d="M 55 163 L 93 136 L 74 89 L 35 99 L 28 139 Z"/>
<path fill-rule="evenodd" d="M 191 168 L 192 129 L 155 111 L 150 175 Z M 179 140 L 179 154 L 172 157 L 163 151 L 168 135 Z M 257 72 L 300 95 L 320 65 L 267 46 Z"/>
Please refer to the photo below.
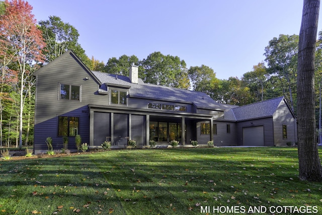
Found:
<path fill-rule="evenodd" d="M 297 142 L 297 125 L 289 107 L 284 103 L 278 106 L 273 115 L 275 146 L 287 146 L 287 142 Z M 287 138 L 283 139 L 283 125 L 287 127 Z"/>

